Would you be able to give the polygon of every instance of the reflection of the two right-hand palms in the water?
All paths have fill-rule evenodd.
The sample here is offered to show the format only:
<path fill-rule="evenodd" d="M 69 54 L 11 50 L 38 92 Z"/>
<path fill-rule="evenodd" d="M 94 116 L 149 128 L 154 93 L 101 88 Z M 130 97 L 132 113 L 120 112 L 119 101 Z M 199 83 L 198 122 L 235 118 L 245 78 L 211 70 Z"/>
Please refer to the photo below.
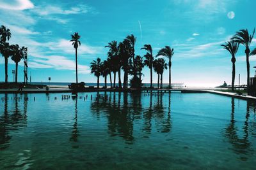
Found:
<path fill-rule="evenodd" d="M 252 148 L 250 148 L 251 143 L 248 139 L 248 119 L 250 117 L 250 111 L 249 111 L 249 104 L 247 103 L 246 106 L 246 120 L 244 122 L 243 132 L 244 136 L 243 138 L 239 138 L 237 135 L 237 127 L 236 127 L 236 120 L 234 119 L 234 112 L 235 112 L 235 104 L 234 104 L 234 98 L 231 100 L 231 117 L 230 117 L 230 124 L 225 129 L 226 134 L 225 136 L 228 138 L 228 141 L 233 145 L 232 150 L 234 150 L 235 153 L 241 155 L 242 160 L 247 160 L 248 157 L 245 157 L 245 155 L 250 152 L 252 153 Z"/>

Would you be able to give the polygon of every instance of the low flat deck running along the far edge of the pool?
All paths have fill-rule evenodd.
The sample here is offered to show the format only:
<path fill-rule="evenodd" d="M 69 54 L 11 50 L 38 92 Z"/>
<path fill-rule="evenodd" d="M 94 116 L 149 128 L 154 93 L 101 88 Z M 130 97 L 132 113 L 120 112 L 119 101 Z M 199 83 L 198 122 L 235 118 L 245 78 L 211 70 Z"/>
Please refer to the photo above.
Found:
<path fill-rule="evenodd" d="M 244 100 L 251 100 L 256 101 L 256 97 L 248 96 L 248 95 L 239 95 L 232 92 L 221 92 L 218 90 L 209 90 L 209 89 L 140 89 L 142 92 L 172 92 L 172 91 L 179 91 L 182 93 L 211 93 L 211 94 L 218 94 L 221 96 L 228 96 L 228 97 L 236 97 L 238 99 Z M 138 92 L 138 89 L 85 89 L 83 92 Z M 49 90 L 46 89 L 23 89 L 20 92 L 17 89 L 0 89 L 0 94 L 28 94 L 28 93 L 72 93 L 70 89 L 61 89 L 61 88 L 50 88 Z"/>

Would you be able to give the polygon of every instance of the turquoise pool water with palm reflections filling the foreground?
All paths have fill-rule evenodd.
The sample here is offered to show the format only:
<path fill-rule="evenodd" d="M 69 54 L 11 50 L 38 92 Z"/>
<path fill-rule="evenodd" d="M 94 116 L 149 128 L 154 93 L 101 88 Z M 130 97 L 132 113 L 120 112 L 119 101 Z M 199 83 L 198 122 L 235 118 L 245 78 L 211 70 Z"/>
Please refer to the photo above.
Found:
<path fill-rule="evenodd" d="M 255 169 L 250 101 L 179 92 L 61 95 L 0 95 L 8 97 L 0 101 L 0 169 Z"/>

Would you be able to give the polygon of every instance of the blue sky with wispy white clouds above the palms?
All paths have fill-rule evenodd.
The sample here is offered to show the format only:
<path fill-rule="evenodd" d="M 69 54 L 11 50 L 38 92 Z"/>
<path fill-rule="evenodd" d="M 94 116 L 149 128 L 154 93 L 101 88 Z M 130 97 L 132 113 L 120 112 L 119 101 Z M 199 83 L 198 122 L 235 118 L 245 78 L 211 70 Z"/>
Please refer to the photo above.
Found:
<path fill-rule="evenodd" d="M 220 45 L 239 29 L 252 33 L 256 26 L 256 1 L 249 0 L 0 0 L 0 25 L 12 32 L 11 44 L 28 47 L 29 76 L 32 81 L 76 81 L 75 50 L 69 42 L 74 32 L 81 35 L 78 48 L 78 79 L 97 82 L 90 74 L 92 60 L 107 58 L 110 41 L 136 36 L 136 55 L 150 44 L 153 54 L 168 45 L 174 48 L 172 83 L 214 87 L 223 81 L 231 84 L 230 53 Z M 256 47 L 253 39 L 251 50 Z M 244 46 L 236 55 L 236 84 L 246 83 Z M 166 61 L 168 61 L 166 59 Z M 250 74 L 254 75 L 256 57 L 250 57 Z M 15 64 L 8 66 L 13 80 Z M 19 63 L 18 81 L 23 81 L 24 63 Z M 143 69 L 143 83 L 150 82 L 150 71 Z M 0 57 L 0 81 L 4 81 L 4 58 Z M 103 82 L 104 79 L 100 78 Z M 109 81 L 109 78 L 108 78 Z M 153 74 L 157 83 L 157 74 Z M 163 83 L 168 83 L 164 71 Z"/>

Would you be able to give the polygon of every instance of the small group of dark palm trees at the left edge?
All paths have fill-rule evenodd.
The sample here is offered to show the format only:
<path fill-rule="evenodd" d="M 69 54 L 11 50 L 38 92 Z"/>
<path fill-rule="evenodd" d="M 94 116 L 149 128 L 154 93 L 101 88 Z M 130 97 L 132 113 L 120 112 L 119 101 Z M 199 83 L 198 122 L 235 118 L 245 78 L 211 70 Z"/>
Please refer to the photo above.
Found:
<path fill-rule="evenodd" d="M 8 83 L 8 58 L 15 62 L 15 83 L 18 80 L 18 64 L 21 59 L 24 58 L 25 47 L 20 47 L 19 45 L 10 45 L 8 41 L 10 40 L 12 34 L 10 29 L 7 29 L 4 25 L 0 27 L 0 53 L 4 57 L 4 69 L 5 69 L 5 83 Z"/>

